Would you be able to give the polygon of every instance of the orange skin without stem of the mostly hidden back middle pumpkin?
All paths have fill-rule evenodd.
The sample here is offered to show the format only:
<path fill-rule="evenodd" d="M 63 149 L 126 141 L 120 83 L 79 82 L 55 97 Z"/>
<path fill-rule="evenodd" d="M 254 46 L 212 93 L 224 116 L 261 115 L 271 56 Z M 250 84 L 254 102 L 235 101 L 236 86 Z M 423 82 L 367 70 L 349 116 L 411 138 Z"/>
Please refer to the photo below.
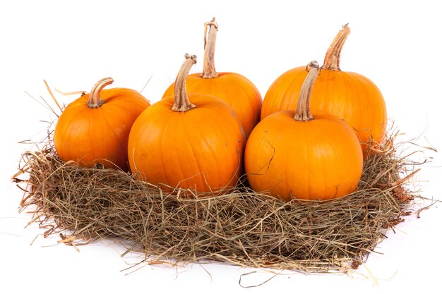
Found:
<path fill-rule="evenodd" d="M 244 134 L 249 137 L 261 117 L 263 99 L 258 88 L 239 73 L 218 73 L 216 78 L 201 78 L 200 75 L 193 73 L 187 77 L 187 92 L 213 95 L 227 102 L 237 113 Z M 174 84 L 167 88 L 163 98 L 173 94 Z"/>

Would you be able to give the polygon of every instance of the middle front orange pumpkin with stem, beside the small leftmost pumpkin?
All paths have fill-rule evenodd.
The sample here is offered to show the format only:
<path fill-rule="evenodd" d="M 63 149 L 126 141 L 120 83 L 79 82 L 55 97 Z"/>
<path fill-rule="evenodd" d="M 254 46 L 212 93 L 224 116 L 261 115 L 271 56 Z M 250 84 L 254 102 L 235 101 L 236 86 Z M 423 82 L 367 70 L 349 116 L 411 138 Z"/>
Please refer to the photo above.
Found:
<path fill-rule="evenodd" d="M 131 171 L 163 190 L 221 191 L 237 184 L 245 137 L 237 114 L 208 94 L 186 92 L 196 56 L 186 54 L 174 96 L 136 119 L 129 135 Z"/>

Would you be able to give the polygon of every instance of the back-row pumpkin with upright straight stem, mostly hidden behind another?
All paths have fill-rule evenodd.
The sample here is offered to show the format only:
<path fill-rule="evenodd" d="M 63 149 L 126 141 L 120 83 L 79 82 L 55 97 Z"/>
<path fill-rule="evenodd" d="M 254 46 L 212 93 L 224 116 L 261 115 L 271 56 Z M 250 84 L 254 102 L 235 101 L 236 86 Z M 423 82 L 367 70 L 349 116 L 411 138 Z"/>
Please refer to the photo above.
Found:
<path fill-rule="evenodd" d="M 189 93 L 203 93 L 218 97 L 237 112 L 246 137 L 260 121 L 263 99 L 253 83 L 239 73 L 215 71 L 215 41 L 218 25 L 215 18 L 205 23 L 203 73 L 193 73 L 186 80 Z M 174 84 L 170 85 L 163 97 L 174 94 Z"/>

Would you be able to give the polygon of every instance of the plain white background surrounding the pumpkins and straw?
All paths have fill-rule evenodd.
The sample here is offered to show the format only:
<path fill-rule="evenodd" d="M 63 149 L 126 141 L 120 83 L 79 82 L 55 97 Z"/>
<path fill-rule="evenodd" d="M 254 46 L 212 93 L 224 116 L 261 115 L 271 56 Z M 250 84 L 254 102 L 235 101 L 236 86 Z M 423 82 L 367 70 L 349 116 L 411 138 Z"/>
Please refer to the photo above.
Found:
<path fill-rule="evenodd" d="M 440 203 L 406 218 L 390 231 L 368 261 L 351 274 L 307 275 L 285 271 L 272 277 L 258 269 L 219 264 L 185 268 L 145 266 L 121 258 L 123 248 L 104 241 L 80 247 L 42 238 L 29 214 L 18 214 L 23 193 L 11 183 L 20 154 L 40 140 L 54 115 L 30 96 L 51 102 L 44 87 L 85 90 L 111 76 L 114 87 L 141 91 L 155 102 L 172 82 L 184 54 L 196 54 L 201 72 L 203 23 L 216 16 L 217 71 L 234 71 L 255 83 L 264 97 L 278 75 L 311 60 L 322 63 L 331 40 L 349 23 L 352 33 L 341 68 L 371 78 L 386 99 L 390 123 L 421 145 L 441 149 L 441 29 L 437 1 L 2 1 L 1 83 L 1 293 L 180 293 L 287 290 L 330 293 L 435 293 L 440 282 Z M 56 93 L 68 104 L 76 97 Z M 41 101 L 41 100 L 40 100 Z M 414 178 L 424 197 L 441 199 L 441 156 Z M 420 205 L 429 202 L 419 203 Z M 419 207 L 418 207 L 419 208 Z M 32 245 L 31 245 L 32 243 Z M 8 290 L 6 290 L 8 289 Z"/>

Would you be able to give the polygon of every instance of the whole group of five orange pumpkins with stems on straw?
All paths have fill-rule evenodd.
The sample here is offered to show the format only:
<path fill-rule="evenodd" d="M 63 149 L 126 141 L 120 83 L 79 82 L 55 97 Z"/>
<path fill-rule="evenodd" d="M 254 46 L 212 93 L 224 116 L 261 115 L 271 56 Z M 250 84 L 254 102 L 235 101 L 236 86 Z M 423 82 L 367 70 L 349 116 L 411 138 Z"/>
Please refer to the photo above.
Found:
<path fill-rule="evenodd" d="M 369 142 L 381 142 L 386 105 L 371 80 L 340 71 L 347 25 L 319 68 L 293 68 L 265 95 L 237 73 L 217 73 L 217 23 L 205 23 L 203 73 L 186 54 L 174 84 L 152 106 L 140 93 L 104 90 L 69 104 L 54 145 L 64 161 L 130 170 L 163 190 L 222 192 L 246 173 L 253 190 L 282 200 L 328 200 L 353 192 Z M 313 87 L 314 85 L 314 87 Z M 362 148 L 361 148 L 362 146 Z"/>

